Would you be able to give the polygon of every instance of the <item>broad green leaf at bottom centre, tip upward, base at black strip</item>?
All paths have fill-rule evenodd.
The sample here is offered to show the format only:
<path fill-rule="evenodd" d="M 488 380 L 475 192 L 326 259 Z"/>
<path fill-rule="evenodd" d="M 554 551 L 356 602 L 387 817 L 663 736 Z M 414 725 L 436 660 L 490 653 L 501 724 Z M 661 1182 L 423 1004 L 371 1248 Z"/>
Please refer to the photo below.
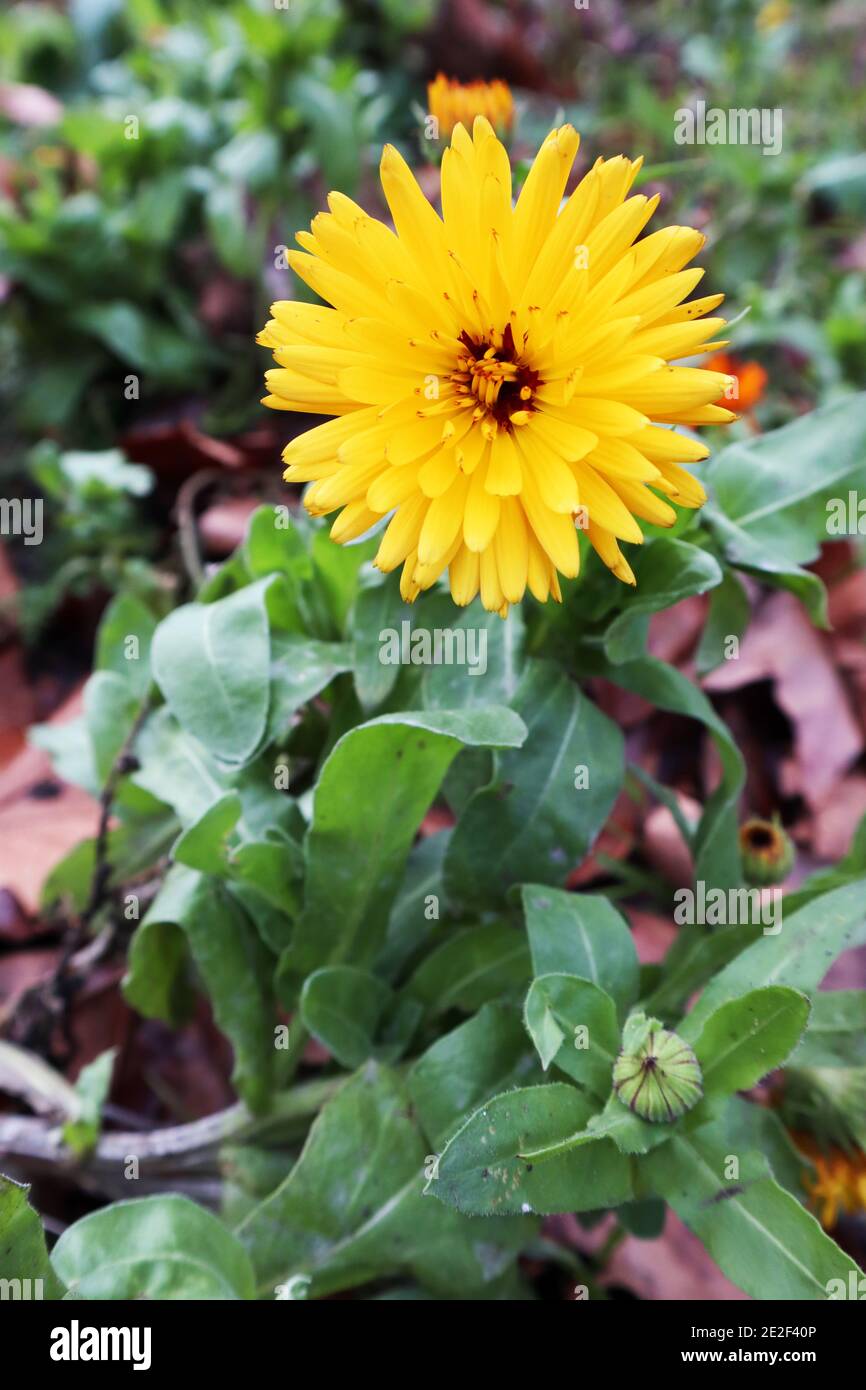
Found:
<path fill-rule="evenodd" d="M 423 1195 L 427 1161 L 405 1083 L 368 1063 L 324 1106 L 285 1182 L 238 1226 L 259 1291 L 297 1277 L 309 1297 L 325 1297 L 407 1273 L 442 1297 L 484 1297 L 534 1226 L 446 1211 Z"/>

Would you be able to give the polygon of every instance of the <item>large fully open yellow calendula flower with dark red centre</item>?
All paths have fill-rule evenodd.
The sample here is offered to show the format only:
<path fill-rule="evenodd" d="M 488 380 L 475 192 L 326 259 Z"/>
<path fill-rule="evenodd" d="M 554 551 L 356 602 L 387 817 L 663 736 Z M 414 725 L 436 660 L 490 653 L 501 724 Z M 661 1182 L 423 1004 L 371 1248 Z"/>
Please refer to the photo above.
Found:
<path fill-rule="evenodd" d="M 336 542 L 393 513 L 375 557 L 403 566 L 407 600 L 446 571 L 505 616 L 528 588 L 560 600 L 578 573 L 577 527 L 627 584 L 619 542 L 635 518 L 671 525 L 670 498 L 705 492 L 683 463 L 703 445 L 666 425 L 734 418 L 730 377 L 671 360 L 716 349 L 721 295 L 687 302 L 703 245 L 669 227 L 635 245 L 656 197 L 627 197 L 639 160 L 598 160 L 560 207 L 578 146 L 545 139 L 512 204 L 491 125 L 457 125 L 442 161 L 442 217 L 392 146 L 381 178 L 396 231 L 342 193 L 289 253 L 332 307 L 278 303 L 259 336 L 278 367 L 267 406 L 335 416 L 293 439 L 291 482 L 311 514 L 342 509 Z M 660 496 L 662 493 L 662 496 Z"/>

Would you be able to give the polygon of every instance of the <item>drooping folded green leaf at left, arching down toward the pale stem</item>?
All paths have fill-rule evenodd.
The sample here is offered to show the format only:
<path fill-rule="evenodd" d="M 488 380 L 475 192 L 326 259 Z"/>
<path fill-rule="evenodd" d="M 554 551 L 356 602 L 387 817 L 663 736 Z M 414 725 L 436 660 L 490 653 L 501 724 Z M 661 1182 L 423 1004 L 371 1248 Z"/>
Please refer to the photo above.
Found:
<path fill-rule="evenodd" d="M 272 956 L 263 947 L 238 899 L 220 883 L 193 869 L 175 865 L 142 922 L 145 941 L 154 927 L 174 924 L 183 930 L 192 958 L 211 999 L 217 1026 L 235 1052 L 232 1079 L 252 1111 L 265 1108 L 274 1080 L 274 1033 L 270 977 Z M 156 1002 L 163 1006 L 177 994 L 178 980 L 167 980 L 163 969 L 154 980 L 147 965 L 154 952 L 145 944 L 131 956 L 131 974 L 124 981 L 129 1002 L 142 1012 Z M 178 949 L 172 949 L 177 966 Z"/>

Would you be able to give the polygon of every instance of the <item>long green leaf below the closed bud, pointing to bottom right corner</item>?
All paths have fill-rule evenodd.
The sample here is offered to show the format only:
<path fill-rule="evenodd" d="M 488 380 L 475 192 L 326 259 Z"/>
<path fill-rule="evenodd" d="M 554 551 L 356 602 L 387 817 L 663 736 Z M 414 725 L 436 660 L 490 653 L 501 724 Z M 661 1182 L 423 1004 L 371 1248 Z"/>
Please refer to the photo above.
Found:
<path fill-rule="evenodd" d="M 831 1279 L 859 1277 L 815 1216 L 767 1175 L 766 1159 L 740 1158 L 731 1180 L 730 1156 L 720 1125 L 677 1133 L 644 1161 L 651 1184 L 728 1279 L 752 1298 L 824 1300 Z"/>

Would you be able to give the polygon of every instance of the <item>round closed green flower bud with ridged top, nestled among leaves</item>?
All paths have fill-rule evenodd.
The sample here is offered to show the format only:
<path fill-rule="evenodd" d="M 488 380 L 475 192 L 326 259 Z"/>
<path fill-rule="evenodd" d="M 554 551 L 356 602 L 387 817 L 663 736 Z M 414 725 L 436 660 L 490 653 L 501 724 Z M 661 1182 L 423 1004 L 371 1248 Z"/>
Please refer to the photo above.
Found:
<path fill-rule="evenodd" d="M 684 1038 L 642 1013 L 628 1020 L 613 1065 L 613 1088 L 623 1105 L 653 1125 L 670 1123 L 698 1104 L 702 1081 Z"/>

